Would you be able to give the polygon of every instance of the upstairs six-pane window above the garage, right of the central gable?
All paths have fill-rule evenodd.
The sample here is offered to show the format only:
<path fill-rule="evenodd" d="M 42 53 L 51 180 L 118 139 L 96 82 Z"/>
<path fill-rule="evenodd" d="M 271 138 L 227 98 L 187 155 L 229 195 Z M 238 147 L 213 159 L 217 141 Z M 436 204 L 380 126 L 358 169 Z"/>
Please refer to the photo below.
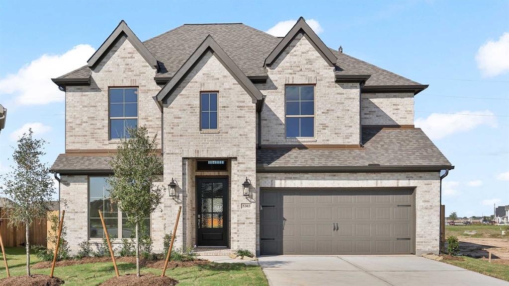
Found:
<path fill-rule="evenodd" d="M 285 87 L 286 136 L 315 136 L 314 85 L 287 85 Z"/>

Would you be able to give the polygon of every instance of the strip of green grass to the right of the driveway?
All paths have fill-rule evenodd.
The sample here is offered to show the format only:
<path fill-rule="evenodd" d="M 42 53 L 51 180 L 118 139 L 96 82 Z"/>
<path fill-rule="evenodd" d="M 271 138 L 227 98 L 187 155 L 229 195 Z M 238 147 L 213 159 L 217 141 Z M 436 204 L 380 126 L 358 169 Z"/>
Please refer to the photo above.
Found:
<path fill-rule="evenodd" d="M 467 256 L 462 256 L 465 261 L 456 261 L 456 260 L 442 260 L 445 263 L 456 265 L 461 268 L 465 268 L 468 270 L 472 270 L 478 273 L 482 273 L 485 275 L 493 276 L 498 279 L 502 279 L 505 281 L 509 281 L 509 266 L 489 263 L 486 260 L 475 259 Z"/>

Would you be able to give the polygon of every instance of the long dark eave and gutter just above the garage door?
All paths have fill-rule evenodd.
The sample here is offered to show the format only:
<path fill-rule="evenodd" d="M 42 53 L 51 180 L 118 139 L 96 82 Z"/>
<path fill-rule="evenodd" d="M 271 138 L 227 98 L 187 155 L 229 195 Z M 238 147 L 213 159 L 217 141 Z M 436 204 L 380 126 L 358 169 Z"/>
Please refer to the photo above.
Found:
<path fill-rule="evenodd" d="M 394 173 L 431 172 L 454 169 L 452 165 L 421 166 L 268 166 L 257 164 L 257 173 Z"/>

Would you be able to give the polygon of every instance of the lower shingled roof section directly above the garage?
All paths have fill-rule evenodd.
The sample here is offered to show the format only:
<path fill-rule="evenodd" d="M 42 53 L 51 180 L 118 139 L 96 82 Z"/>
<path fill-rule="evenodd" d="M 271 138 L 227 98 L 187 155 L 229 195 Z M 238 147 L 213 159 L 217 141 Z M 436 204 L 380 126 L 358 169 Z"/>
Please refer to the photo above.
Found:
<path fill-rule="evenodd" d="M 454 168 L 419 128 L 363 128 L 362 148 L 260 149 L 257 171 Z"/>

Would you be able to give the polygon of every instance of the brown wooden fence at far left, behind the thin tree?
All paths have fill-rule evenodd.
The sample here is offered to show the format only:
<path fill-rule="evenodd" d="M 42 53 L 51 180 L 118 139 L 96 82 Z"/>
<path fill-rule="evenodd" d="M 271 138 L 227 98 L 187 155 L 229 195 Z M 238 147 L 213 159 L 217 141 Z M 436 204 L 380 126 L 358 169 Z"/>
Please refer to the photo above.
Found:
<path fill-rule="evenodd" d="M 0 208 L 0 233 L 4 240 L 4 246 L 22 246 L 26 242 L 25 225 L 19 223 L 16 226 L 9 226 L 9 215 L 4 208 Z M 31 245 L 46 246 L 47 240 L 47 219 L 37 219 L 30 226 Z"/>

